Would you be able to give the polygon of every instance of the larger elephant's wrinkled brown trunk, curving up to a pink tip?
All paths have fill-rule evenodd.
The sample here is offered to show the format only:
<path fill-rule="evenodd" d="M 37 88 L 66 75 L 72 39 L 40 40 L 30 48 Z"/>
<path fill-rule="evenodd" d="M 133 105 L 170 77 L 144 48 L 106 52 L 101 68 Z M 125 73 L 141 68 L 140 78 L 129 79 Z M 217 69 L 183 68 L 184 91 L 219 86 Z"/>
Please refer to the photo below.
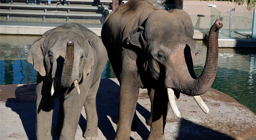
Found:
<path fill-rule="evenodd" d="M 188 82 L 187 88 L 181 89 L 182 93 L 190 96 L 196 96 L 204 94 L 209 88 L 211 88 L 217 72 L 219 56 L 218 34 L 219 29 L 222 26 L 223 25 L 219 19 L 217 19 L 212 25 L 208 36 L 204 70 L 198 78 Z"/>

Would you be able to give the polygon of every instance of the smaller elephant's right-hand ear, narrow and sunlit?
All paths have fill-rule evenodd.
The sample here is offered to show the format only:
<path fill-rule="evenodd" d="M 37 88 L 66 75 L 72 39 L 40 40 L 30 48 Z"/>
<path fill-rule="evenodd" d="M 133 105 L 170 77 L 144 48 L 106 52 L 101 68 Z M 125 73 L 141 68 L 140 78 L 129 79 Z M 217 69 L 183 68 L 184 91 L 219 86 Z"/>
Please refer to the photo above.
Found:
<path fill-rule="evenodd" d="M 87 47 L 88 47 L 88 53 L 86 55 L 86 62 L 84 66 L 83 71 L 83 78 L 85 79 L 89 72 L 92 70 L 92 66 L 94 65 L 94 55 L 92 50 L 92 43 L 89 39 L 86 39 L 87 41 Z"/>

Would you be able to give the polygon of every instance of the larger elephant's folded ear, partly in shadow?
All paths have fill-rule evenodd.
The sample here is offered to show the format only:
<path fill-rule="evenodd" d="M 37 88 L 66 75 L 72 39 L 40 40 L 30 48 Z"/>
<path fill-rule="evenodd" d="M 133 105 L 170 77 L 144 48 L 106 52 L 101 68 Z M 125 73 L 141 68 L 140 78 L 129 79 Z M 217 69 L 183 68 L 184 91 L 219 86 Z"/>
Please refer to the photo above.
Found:
<path fill-rule="evenodd" d="M 144 58 L 145 58 L 145 62 L 144 62 L 144 69 L 145 71 L 147 70 L 147 66 L 148 66 L 148 59 L 147 59 L 147 55 L 145 52 L 145 49 L 147 46 L 145 43 L 146 41 L 143 39 L 142 36 L 142 32 L 143 32 L 144 28 L 142 26 L 138 26 L 137 28 L 135 28 L 134 30 L 132 30 L 132 32 L 129 33 L 129 36 L 127 38 L 127 44 L 129 45 L 130 43 L 134 46 L 138 46 L 140 47 L 143 52 L 144 52 Z"/>

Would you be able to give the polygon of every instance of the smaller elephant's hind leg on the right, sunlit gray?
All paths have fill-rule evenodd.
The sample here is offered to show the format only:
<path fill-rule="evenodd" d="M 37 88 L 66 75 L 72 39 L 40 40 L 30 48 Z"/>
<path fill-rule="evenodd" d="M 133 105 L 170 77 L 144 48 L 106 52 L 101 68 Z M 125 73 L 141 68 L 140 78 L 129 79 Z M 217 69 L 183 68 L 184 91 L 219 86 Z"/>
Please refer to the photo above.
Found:
<path fill-rule="evenodd" d="M 89 94 L 84 102 L 86 113 L 86 130 L 84 138 L 87 140 L 95 139 L 98 137 L 98 115 L 96 111 L 96 94 L 100 85 L 100 79 L 91 87 Z"/>

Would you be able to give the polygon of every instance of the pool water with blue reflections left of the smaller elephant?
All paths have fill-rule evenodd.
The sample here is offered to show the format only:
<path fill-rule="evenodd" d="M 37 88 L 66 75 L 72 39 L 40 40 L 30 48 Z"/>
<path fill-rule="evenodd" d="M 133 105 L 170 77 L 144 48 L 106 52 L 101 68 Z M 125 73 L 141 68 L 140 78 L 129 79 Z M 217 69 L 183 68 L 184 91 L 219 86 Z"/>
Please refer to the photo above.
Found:
<path fill-rule="evenodd" d="M 0 84 L 35 83 L 36 70 L 27 62 L 29 49 L 38 36 L 0 36 Z"/>

